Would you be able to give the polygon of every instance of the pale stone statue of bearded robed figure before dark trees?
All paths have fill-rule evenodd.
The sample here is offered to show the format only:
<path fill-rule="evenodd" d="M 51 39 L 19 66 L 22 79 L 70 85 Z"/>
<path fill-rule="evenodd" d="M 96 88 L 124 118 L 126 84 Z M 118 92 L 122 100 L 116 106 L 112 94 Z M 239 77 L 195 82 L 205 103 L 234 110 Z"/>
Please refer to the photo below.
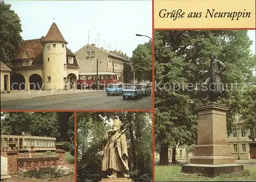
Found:
<path fill-rule="evenodd" d="M 104 145 L 105 144 L 105 145 Z M 129 178 L 126 173 L 129 171 L 128 151 L 122 122 L 113 121 L 113 128 L 108 130 L 103 137 L 102 146 L 102 171 L 110 169 L 112 174 L 108 178 L 117 178 L 117 172 L 121 172 L 123 177 Z"/>

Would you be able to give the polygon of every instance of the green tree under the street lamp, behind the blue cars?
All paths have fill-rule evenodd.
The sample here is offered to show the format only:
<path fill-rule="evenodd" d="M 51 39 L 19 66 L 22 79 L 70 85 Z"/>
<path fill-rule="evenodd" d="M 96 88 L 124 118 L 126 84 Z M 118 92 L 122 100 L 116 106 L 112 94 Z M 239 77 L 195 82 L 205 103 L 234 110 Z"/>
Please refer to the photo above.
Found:
<path fill-rule="evenodd" d="M 139 44 L 133 51 L 131 61 L 138 80 L 152 81 L 152 41 Z"/>

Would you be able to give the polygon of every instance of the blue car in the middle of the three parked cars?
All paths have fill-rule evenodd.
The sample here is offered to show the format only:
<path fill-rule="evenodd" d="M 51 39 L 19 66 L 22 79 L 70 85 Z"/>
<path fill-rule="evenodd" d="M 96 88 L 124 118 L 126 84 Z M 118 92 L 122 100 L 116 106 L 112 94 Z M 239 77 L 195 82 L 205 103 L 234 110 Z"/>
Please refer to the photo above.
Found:
<path fill-rule="evenodd" d="M 126 84 L 125 88 L 122 91 L 122 96 L 124 99 L 126 97 L 142 98 L 143 90 L 137 84 Z"/>

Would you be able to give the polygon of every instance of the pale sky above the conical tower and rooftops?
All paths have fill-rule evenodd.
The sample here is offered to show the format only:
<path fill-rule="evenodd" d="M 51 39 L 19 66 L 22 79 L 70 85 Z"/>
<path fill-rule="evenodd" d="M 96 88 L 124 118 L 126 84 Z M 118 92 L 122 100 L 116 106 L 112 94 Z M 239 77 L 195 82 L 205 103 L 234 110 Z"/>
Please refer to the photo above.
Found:
<path fill-rule="evenodd" d="M 130 57 L 138 44 L 150 40 L 135 34 L 152 38 L 152 1 L 5 2 L 21 20 L 23 39 L 46 36 L 55 22 L 73 53 L 88 43 L 88 31 L 90 44 Z"/>

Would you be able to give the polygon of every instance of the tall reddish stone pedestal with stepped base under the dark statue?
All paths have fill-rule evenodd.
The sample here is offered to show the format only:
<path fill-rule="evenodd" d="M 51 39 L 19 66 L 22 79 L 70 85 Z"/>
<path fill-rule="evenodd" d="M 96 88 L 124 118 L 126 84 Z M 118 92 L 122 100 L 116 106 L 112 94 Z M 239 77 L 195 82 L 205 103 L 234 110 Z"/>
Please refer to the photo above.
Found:
<path fill-rule="evenodd" d="M 216 176 L 243 170 L 234 164 L 227 144 L 226 111 L 223 104 L 208 103 L 196 108 L 198 111 L 198 142 L 190 164 L 182 166 L 182 172 Z"/>

